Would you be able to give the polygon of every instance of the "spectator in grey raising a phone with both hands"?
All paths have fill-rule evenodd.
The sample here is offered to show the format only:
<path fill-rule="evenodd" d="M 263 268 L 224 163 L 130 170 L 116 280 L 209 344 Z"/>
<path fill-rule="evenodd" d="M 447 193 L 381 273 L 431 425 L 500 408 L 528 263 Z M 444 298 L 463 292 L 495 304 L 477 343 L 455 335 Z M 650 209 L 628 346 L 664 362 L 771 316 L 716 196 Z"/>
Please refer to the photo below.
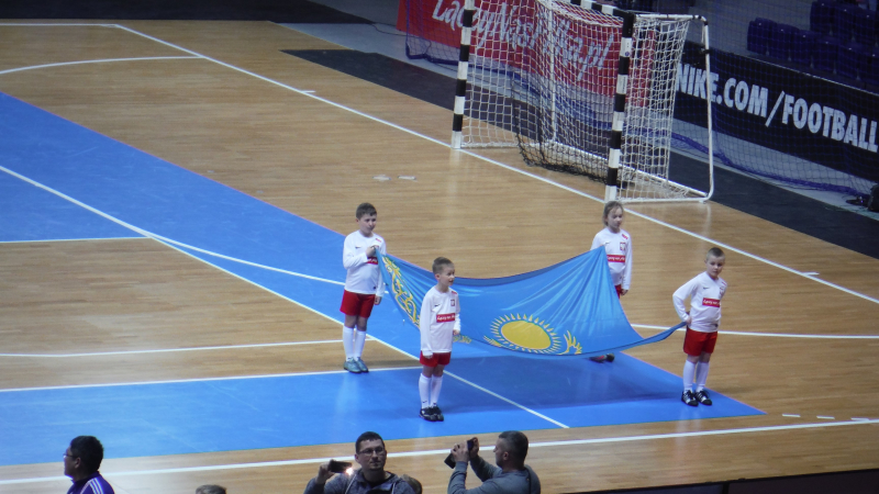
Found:
<path fill-rule="evenodd" d="M 472 448 L 461 442 L 452 448 L 455 470 L 448 480 L 448 494 L 541 494 L 541 480 L 531 467 L 525 464 L 528 453 L 528 438 L 518 431 L 508 430 L 498 436 L 494 444 L 494 462 L 489 464 L 479 457 L 479 439 L 474 438 Z M 467 490 L 467 462 L 482 481 L 482 485 Z"/>

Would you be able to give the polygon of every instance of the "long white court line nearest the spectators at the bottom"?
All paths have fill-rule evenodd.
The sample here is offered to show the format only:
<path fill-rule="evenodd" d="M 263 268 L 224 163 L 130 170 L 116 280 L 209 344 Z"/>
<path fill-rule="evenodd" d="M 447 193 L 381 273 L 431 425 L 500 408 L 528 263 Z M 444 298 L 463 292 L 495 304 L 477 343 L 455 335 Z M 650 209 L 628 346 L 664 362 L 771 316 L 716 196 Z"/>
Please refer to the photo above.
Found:
<path fill-rule="evenodd" d="M 766 426 L 766 427 L 747 427 L 741 429 L 720 429 L 720 430 L 700 430 L 694 433 L 672 433 L 672 434 L 655 434 L 649 436 L 623 436 L 623 437 L 608 437 L 599 439 L 571 439 L 565 441 L 547 441 L 547 442 L 532 442 L 528 448 L 556 448 L 566 446 L 582 446 L 582 445 L 607 445 L 614 442 L 632 442 L 632 441 L 649 441 L 659 439 L 680 439 L 688 437 L 704 437 L 704 436 L 723 436 L 732 434 L 754 434 L 754 433 L 774 433 L 779 430 L 794 430 L 794 429 L 819 429 L 826 427 L 842 427 L 852 425 L 865 424 L 879 424 L 879 419 L 865 419 L 852 422 L 833 422 L 823 424 L 795 424 L 782 426 Z M 449 448 L 450 449 L 450 448 Z M 411 457 L 426 457 L 434 454 L 448 454 L 449 449 L 432 449 L 423 451 L 403 451 L 403 452 L 389 452 L 388 458 L 411 458 Z M 338 459 L 338 457 L 336 457 Z M 231 464 L 212 464 L 204 467 L 183 467 L 173 469 L 156 469 L 156 470 L 134 470 L 113 472 L 112 470 L 103 470 L 103 476 L 108 479 L 116 476 L 133 476 L 133 475 L 157 475 L 169 473 L 189 473 L 189 472 L 209 472 L 218 470 L 238 470 L 238 469 L 260 469 L 270 467 L 289 467 L 298 464 L 320 464 L 330 461 L 330 458 L 308 458 L 301 460 L 282 460 L 282 461 L 263 461 L 256 463 L 231 463 Z M 33 484 L 40 482 L 56 482 L 59 480 L 68 480 L 66 476 L 37 476 L 31 479 L 9 479 L 0 480 L 0 485 L 10 484 Z"/>

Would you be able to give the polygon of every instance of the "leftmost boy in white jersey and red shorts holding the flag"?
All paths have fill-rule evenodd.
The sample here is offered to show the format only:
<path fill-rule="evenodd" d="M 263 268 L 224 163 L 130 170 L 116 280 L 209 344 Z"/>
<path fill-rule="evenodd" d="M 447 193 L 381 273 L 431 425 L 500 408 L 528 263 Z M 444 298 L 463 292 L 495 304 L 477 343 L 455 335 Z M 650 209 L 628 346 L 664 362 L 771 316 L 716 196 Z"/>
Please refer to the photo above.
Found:
<path fill-rule="evenodd" d="M 348 270 L 342 307 L 345 326 L 342 328 L 342 345 L 345 347 L 343 369 L 355 374 L 369 372 L 363 360 L 366 343 L 366 323 L 372 306 L 381 303 L 385 282 L 378 268 L 379 254 L 387 255 L 385 239 L 372 233 L 378 213 L 368 202 L 355 212 L 357 231 L 345 237 L 342 249 L 342 266 Z M 357 330 L 354 330 L 355 327 Z"/>

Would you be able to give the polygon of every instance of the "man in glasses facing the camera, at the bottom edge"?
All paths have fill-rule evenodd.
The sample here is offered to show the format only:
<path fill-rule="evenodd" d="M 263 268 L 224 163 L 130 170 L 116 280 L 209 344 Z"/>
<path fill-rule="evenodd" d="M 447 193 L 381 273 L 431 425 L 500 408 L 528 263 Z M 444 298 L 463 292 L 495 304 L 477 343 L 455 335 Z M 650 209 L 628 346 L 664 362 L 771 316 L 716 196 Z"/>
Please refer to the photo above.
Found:
<path fill-rule="evenodd" d="M 331 461 L 318 469 L 318 476 L 309 481 L 305 494 L 366 494 L 387 492 L 390 494 L 414 494 L 412 487 L 398 475 L 385 471 L 388 451 L 385 440 L 376 433 L 364 433 L 354 444 L 354 460 L 360 464 L 359 470 L 348 469 L 333 476 Z M 338 470 L 336 467 L 333 470 Z M 329 481 L 329 482 L 327 482 Z"/>

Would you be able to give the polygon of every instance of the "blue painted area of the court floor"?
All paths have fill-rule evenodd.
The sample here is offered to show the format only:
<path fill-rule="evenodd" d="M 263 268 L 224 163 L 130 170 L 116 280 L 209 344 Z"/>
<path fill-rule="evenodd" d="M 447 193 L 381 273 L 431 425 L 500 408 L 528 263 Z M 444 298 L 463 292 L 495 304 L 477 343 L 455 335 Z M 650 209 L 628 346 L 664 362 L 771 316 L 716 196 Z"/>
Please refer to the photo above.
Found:
<path fill-rule="evenodd" d="M 0 166 L 8 170 L 0 172 L 0 242 L 157 235 L 341 322 L 337 284 L 186 247 L 341 282 L 344 237 L 335 232 L 4 94 Z M 377 307 L 369 334 L 418 355 L 418 332 L 392 303 Z M 59 461 L 82 434 L 100 437 L 109 458 L 123 458 L 351 442 L 368 429 L 402 439 L 761 413 L 719 393 L 712 407 L 687 407 L 678 375 L 625 355 L 598 364 L 456 344 L 448 371 L 460 379 L 443 384 L 446 422 L 426 423 L 412 363 L 360 375 L 0 391 L 0 437 L 16 445 L 0 449 L 0 464 Z"/>

